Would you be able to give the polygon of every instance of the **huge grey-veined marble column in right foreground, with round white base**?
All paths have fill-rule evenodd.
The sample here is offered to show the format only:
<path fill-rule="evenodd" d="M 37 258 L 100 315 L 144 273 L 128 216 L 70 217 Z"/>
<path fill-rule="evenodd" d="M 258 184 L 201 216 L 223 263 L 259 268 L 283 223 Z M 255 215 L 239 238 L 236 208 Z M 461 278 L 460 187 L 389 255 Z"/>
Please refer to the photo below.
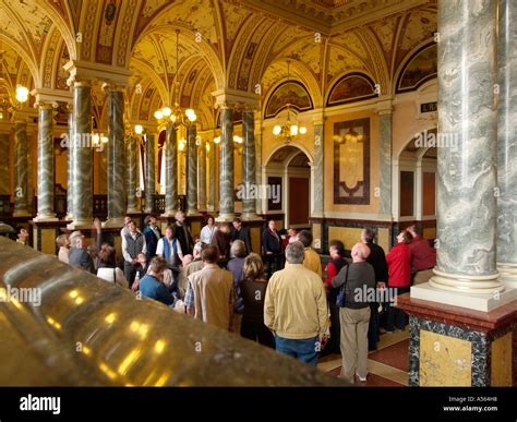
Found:
<path fill-rule="evenodd" d="M 430 281 L 490 297 L 504 289 L 495 266 L 495 12 L 496 0 L 474 9 L 470 0 L 438 1 L 437 263 Z"/>

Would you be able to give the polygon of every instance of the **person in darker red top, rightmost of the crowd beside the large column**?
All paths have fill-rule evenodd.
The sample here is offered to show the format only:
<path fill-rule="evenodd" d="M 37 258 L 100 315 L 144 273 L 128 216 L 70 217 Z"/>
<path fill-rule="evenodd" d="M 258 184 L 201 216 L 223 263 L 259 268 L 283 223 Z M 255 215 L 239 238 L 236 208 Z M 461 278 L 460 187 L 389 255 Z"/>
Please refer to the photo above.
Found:
<path fill-rule="evenodd" d="M 436 250 L 431 248 L 422 238 L 422 230 L 417 226 L 407 229 L 413 240 L 409 244 L 411 250 L 411 284 L 421 285 L 428 282 L 433 276 L 433 268 L 436 265 Z"/>

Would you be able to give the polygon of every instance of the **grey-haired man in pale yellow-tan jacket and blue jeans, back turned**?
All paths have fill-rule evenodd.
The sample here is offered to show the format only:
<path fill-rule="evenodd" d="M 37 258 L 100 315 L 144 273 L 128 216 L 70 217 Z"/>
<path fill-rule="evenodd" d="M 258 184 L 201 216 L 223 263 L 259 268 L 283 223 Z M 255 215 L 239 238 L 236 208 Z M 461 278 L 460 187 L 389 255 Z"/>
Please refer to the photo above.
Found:
<path fill-rule="evenodd" d="M 286 248 L 286 268 L 267 285 L 264 324 L 275 334 L 276 350 L 316 366 L 321 340 L 326 340 L 327 299 L 322 279 L 303 266 L 304 248 Z"/>

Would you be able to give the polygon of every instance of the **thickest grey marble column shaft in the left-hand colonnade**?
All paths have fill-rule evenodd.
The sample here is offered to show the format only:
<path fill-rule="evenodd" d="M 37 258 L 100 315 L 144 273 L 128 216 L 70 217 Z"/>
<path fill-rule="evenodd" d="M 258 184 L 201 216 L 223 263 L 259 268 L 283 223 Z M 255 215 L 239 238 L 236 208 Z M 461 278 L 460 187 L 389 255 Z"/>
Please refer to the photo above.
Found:
<path fill-rule="evenodd" d="M 73 221 L 72 230 L 91 227 L 93 221 L 92 86 L 73 85 Z"/>

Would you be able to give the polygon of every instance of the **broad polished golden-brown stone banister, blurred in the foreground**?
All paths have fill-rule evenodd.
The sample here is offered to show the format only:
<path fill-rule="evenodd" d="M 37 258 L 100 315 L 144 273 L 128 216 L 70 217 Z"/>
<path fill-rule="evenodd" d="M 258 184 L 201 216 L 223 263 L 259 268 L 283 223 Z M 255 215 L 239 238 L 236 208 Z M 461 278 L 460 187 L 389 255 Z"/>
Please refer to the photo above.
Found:
<path fill-rule="evenodd" d="M 0 362 L 0 385 L 344 385 L 2 237 Z"/>

